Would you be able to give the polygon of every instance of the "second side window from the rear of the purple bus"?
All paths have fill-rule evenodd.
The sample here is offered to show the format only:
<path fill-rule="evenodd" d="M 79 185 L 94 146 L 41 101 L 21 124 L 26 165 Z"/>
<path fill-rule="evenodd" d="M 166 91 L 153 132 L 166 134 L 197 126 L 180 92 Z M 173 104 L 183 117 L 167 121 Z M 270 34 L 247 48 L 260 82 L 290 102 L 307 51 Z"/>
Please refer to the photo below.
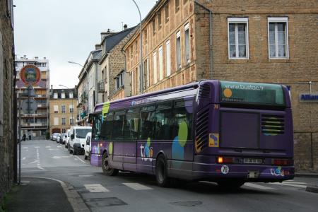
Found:
<path fill-rule="evenodd" d="M 172 102 L 158 104 L 155 112 L 155 139 L 173 140 L 172 129 Z"/>

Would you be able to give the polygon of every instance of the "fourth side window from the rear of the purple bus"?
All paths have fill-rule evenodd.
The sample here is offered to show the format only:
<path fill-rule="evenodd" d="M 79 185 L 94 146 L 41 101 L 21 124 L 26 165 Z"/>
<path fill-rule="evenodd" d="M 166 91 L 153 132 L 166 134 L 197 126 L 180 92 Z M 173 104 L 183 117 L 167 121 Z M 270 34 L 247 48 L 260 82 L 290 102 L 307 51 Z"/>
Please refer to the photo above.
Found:
<path fill-rule="evenodd" d="M 140 108 L 127 110 L 126 122 L 124 123 L 124 138 L 125 141 L 135 141 L 139 134 L 139 112 Z"/>

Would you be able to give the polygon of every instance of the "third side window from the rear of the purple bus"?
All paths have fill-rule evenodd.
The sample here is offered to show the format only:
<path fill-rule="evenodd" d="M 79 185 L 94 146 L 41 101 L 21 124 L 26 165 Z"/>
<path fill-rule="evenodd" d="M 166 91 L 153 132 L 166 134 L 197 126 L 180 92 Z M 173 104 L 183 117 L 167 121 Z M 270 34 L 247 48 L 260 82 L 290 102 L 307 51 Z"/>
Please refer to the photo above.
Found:
<path fill-rule="evenodd" d="M 141 107 L 140 122 L 139 139 L 153 139 L 155 130 L 155 105 Z"/>

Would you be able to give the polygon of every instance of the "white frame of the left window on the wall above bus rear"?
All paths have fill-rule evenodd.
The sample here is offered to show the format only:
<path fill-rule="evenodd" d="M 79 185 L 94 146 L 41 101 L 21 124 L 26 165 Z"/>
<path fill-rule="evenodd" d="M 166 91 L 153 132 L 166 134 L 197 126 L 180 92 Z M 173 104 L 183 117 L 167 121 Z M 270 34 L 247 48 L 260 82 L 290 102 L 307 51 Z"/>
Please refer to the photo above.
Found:
<path fill-rule="evenodd" d="M 246 24 L 246 57 L 239 57 L 238 51 L 238 36 L 235 33 L 235 48 L 237 55 L 236 57 L 230 57 L 230 23 L 245 23 Z M 236 30 L 235 30 L 236 31 Z M 228 18 L 228 59 L 249 59 L 249 18 Z"/>

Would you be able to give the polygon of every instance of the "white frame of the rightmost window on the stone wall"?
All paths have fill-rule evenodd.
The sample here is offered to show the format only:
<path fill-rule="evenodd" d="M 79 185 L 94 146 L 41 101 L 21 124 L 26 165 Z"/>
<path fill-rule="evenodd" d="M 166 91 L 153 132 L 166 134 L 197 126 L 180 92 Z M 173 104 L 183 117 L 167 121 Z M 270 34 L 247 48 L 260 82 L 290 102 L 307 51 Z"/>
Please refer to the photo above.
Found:
<path fill-rule="evenodd" d="M 289 59 L 289 44 L 288 44 L 288 17 L 268 17 L 267 18 L 267 42 L 269 47 L 269 23 L 286 23 L 286 34 L 285 34 L 285 41 L 286 41 L 286 56 L 285 57 L 271 57 L 271 52 L 269 48 L 269 59 Z M 275 30 L 275 38 L 277 38 L 277 30 Z M 278 39 L 275 39 L 275 47 L 276 52 L 278 51 Z"/>

